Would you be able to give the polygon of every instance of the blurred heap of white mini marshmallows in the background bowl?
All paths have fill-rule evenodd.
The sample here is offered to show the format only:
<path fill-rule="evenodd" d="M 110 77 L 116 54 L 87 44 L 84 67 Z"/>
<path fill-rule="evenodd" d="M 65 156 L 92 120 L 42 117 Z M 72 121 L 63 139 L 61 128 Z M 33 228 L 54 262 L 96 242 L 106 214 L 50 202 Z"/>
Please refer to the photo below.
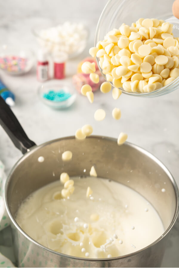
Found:
<path fill-rule="evenodd" d="M 83 23 L 66 21 L 63 24 L 45 23 L 32 29 L 38 44 L 51 53 L 65 52 L 69 58 L 81 54 L 89 31 Z"/>

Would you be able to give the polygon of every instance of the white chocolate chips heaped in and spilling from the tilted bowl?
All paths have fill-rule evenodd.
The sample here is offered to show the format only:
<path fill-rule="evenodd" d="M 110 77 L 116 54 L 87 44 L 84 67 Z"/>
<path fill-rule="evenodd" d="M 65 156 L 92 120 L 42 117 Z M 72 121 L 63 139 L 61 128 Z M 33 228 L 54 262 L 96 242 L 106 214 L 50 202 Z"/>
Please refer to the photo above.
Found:
<path fill-rule="evenodd" d="M 178 37 L 173 37 L 172 27 L 169 22 L 153 18 L 140 18 L 131 27 L 123 23 L 119 29 L 108 32 L 89 52 L 92 57 L 99 58 L 106 80 L 115 88 L 122 87 L 127 92 L 152 92 L 179 76 L 179 43 Z M 94 63 L 85 62 L 82 71 L 90 73 L 91 80 L 98 82 L 98 75 L 93 74 Z M 91 91 L 89 89 L 88 85 L 85 94 Z M 102 84 L 103 93 L 110 90 L 110 83 Z M 93 100 L 91 93 L 87 97 Z"/>

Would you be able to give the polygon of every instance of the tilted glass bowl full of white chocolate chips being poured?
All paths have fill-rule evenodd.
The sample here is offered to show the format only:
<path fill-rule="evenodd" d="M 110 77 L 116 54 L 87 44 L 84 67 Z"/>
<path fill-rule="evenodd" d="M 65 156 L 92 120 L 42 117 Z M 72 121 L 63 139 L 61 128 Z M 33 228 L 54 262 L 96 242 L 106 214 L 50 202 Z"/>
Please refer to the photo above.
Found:
<path fill-rule="evenodd" d="M 179 20 L 172 2 L 109 0 L 98 21 L 101 74 L 132 96 L 159 96 L 179 87 Z"/>

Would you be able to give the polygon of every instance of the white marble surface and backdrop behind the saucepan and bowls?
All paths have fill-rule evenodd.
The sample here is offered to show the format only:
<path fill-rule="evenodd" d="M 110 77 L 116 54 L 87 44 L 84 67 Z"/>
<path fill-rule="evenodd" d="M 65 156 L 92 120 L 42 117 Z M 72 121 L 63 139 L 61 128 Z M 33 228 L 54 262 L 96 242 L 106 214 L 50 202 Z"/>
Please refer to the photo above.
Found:
<path fill-rule="evenodd" d="M 43 4 L 42 4 L 43 2 Z M 91 27 L 91 36 L 86 51 L 78 58 L 67 63 L 67 78 L 76 72 L 80 59 L 86 57 L 93 43 L 95 25 L 101 13 L 101 5 L 106 1 L 4 1 L 0 3 L 0 45 L 15 43 L 36 48 L 35 40 L 30 32 L 33 25 L 52 18 L 62 20 L 73 18 L 85 21 Z M 166 3 L 166 1 L 163 1 Z M 170 6 L 172 1 L 170 2 Z M 50 4 L 49 4 L 50 3 Z M 147 1 L 146 1 L 147 3 Z M 63 9 L 62 9 L 63 7 Z M 95 8 L 94 8 L 95 7 Z M 80 10 L 79 10 L 80 8 Z M 62 14 L 63 17 L 59 14 Z M 88 10 L 88 12 L 86 12 Z M 13 14 L 13 15 L 12 15 Z M 58 17 L 59 16 L 59 17 Z M 91 19 L 92 18 L 92 19 Z M 128 141 L 137 144 L 158 157 L 173 174 L 179 186 L 179 90 L 157 98 L 138 98 L 122 95 L 117 101 L 111 94 L 95 93 L 95 101 L 91 105 L 86 98 L 79 95 L 72 107 L 67 110 L 52 110 L 40 102 L 37 88 L 35 67 L 24 76 L 10 77 L 0 72 L 4 83 L 16 94 L 16 106 L 12 108 L 30 139 L 36 144 L 45 141 L 74 135 L 75 130 L 89 123 L 94 128 L 95 135 L 118 137 L 121 131 L 128 133 Z M 114 107 L 121 109 L 120 121 L 112 119 Z M 104 121 L 96 122 L 93 114 L 97 108 L 106 110 Z M 14 163 L 21 157 L 10 141 L 10 138 L 0 127 L 0 159 L 9 172 Z M 167 244 L 162 267 L 178 267 L 179 264 L 179 220 L 171 232 Z"/>

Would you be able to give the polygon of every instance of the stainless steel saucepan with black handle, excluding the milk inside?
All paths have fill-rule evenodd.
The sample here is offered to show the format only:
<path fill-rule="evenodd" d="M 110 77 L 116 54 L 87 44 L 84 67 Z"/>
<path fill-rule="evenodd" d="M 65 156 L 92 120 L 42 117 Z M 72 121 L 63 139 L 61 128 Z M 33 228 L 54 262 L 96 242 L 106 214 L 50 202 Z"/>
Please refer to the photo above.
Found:
<path fill-rule="evenodd" d="M 12 168 L 5 185 L 5 202 L 11 219 L 18 267 L 160 267 L 168 233 L 178 215 L 179 197 L 174 178 L 155 156 L 136 145 L 126 142 L 118 146 L 116 139 L 101 136 L 90 136 L 83 141 L 65 137 L 37 146 L 27 137 L 1 97 L 0 123 L 24 154 Z M 73 158 L 63 163 L 61 153 L 66 150 L 72 151 Z M 43 163 L 38 162 L 39 156 L 44 157 Z M 89 259 L 55 252 L 24 233 L 14 217 L 19 205 L 29 194 L 59 180 L 61 172 L 79 176 L 84 174 L 85 168 L 86 174 L 89 174 L 94 164 L 99 177 L 129 186 L 152 203 L 165 228 L 161 237 L 132 254 Z M 161 188 L 165 188 L 166 192 L 163 193 Z"/>

